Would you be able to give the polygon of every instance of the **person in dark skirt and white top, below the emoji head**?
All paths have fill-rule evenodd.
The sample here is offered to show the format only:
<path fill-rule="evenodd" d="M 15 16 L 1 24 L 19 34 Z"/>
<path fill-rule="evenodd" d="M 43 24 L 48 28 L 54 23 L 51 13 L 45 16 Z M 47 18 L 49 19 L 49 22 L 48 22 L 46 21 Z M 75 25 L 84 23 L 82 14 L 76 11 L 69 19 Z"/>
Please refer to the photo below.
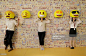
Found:
<path fill-rule="evenodd" d="M 70 30 L 69 30 L 69 37 L 70 37 L 70 48 L 74 49 L 74 41 L 75 37 L 77 37 L 77 26 L 81 23 L 81 20 L 76 17 L 70 18 L 69 24 L 70 24 Z M 72 42 L 73 41 L 73 42 Z M 72 45 L 73 43 L 73 45 Z"/>

